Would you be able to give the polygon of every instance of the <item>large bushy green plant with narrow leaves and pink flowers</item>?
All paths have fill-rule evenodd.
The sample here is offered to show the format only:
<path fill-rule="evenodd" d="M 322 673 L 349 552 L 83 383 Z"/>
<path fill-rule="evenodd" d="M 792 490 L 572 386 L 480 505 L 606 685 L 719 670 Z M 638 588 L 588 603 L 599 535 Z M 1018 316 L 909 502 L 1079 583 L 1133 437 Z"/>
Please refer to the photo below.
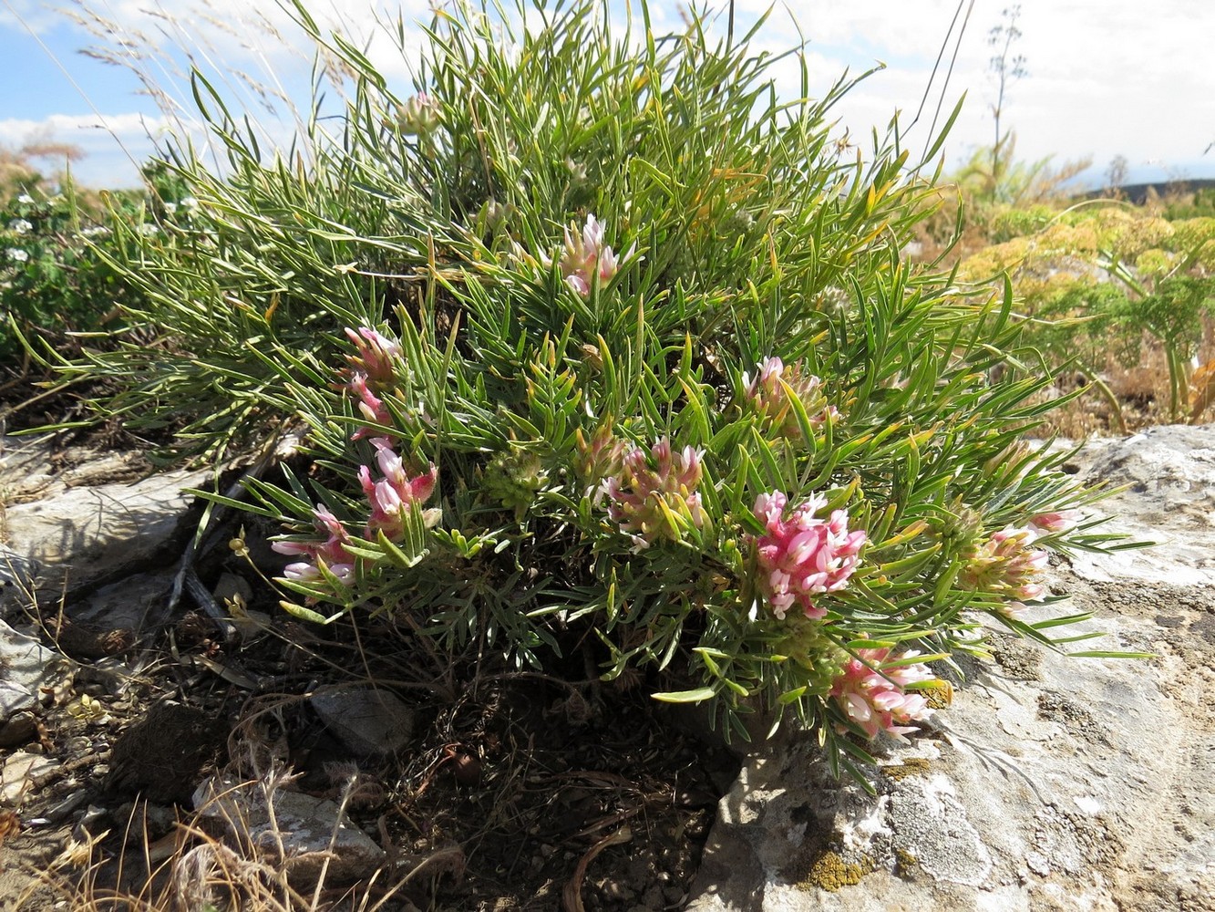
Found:
<path fill-rule="evenodd" d="M 1025 443 L 1011 299 L 903 260 L 936 197 L 897 125 L 835 141 L 849 83 L 782 97 L 796 50 L 635 12 L 445 7 L 406 89 L 296 7 L 340 116 L 273 152 L 198 79 L 227 162 L 168 150 L 198 206 L 124 248 L 157 342 L 79 368 L 180 455 L 304 428 L 309 471 L 242 505 L 282 524 L 296 615 L 587 651 L 728 732 L 796 714 L 854 770 L 984 619 L 1055 642 L 1023 613 L 1050 550 L 1106 541 L 1095 495 Z"/>

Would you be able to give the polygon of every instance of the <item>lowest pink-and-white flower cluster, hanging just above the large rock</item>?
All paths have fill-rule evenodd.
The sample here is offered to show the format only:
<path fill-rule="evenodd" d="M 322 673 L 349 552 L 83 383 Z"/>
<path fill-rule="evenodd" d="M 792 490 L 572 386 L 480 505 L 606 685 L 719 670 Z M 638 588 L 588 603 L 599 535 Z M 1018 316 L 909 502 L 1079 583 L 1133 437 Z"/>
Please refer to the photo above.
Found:
<path fill-rule="evenodd" d="M 921 663 L 899 664 L 882 668 L 887 663 L 906 663 L 920 653 L 915 649 L 891 657 L 888 648 L 860 649 L 844 663 L 840 676 L 831 685 L 831 697 L 849 721 L 860 727 L 870 738 L 880 731 L 906 743 L 905 734 L 916 731 L 908 722 L 928 719 L 933 710 L 928 700 L 916 692 L 908 693 L 909 685 L 932 681 L 934 675 Z M 866 665 L 868 663 L 868 665 Z"/>

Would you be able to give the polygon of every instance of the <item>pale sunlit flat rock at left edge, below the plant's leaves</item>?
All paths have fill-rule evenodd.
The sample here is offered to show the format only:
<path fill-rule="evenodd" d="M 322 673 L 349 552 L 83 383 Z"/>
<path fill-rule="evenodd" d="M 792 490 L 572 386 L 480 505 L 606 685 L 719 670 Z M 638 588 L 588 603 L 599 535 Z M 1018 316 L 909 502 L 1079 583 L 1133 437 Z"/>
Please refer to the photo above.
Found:
<path fill-rule="evenodd" d="M 147 475 L 130 454 L 60 452 L 51 435 L 5 438 L 5 546 L 23 567 L 40 568 L 39 602 L 70 601 L 168 556 L 193 502 L 181 489 L 207 478 L 204 471 Z"/>

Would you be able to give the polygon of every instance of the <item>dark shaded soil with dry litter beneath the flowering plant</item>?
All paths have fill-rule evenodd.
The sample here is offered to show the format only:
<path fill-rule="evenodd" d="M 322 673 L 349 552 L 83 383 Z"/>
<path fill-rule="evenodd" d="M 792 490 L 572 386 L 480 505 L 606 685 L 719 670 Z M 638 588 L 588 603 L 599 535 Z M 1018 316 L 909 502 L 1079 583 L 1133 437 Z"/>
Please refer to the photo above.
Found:
<path fill-rule="evenodd" d="M 318 910 L 371 908 L 391 888 L 380 908 L 401 912 L 683 907 L 739 761 L 646 699 L 669 681 L 600 682 L 587 638 L 547 676 L 479 659 L 475 642 L 436 653 L 386 617 L 305 626 L 227 548 L 199 573 L 208 586 L 249 580 L 247 608 L 270 623 L 230 643 L 196 610 L 96 636 L 58 610 L 6 619 L 70 662 L 36 726 L 0 748 L 0 762 L 53 761 L 0 812 L 0 908 L 159 908 L 147 896 L 170 895 L 165 844 L 181 857 L 204 840 L 187 832 L 196 787 L 252 766 L 289 770 L 292 789 L 327 798 L 358 776 L 350 816 L 388 862 L 327 883 Z M 414 713 L 409 744 L 390 756 L 352 754 L 309 703 L 318 686 L 368 681 Z M 151 905 L 106 900 L 115 890 Z"/>

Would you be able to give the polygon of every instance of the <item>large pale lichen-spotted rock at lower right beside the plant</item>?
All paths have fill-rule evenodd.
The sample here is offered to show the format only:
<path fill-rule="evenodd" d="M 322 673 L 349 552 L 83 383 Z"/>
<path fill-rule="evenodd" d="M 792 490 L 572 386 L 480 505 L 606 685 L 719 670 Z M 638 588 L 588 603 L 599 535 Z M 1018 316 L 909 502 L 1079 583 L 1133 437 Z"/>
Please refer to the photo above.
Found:
<path fill-rule="evenodd" d="M 1215 910 L 1215 427 L 1095 441 L 1074 468 L 1129 485 L 1111 528 L 1159 544 L 1061 561 L 1052 589 L 1107 631 L 1085 647 L 1155 658 L 996 634 L 939 724 L 881 758 L 877 796 L 833 782 L 813 736 L 757 745 L 689 910 Z"/>

